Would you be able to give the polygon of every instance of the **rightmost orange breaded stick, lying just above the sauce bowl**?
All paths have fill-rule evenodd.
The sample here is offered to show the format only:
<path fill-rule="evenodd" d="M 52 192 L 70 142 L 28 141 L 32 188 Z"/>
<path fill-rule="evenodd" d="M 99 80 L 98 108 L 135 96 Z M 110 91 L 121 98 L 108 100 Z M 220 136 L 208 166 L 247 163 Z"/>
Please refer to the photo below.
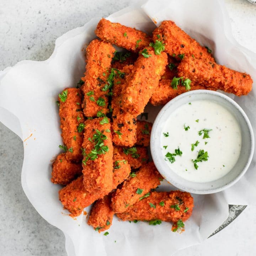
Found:
<path fill-rule="evenodd" d="M 191 88 L 201 85 L 237 96 L 246 95 L 252 90 L 250 75 L 209 62 L 208 59 L 184 58 L 177 69 L 178 76 L 191 80 Z"/>

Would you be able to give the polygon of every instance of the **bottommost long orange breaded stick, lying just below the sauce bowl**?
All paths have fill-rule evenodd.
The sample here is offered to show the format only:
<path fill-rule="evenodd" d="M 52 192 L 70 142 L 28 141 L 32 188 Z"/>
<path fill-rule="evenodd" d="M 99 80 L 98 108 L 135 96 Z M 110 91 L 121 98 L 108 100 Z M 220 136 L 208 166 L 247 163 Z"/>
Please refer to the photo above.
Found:
<path fill-rule="evenodd" d="M 121 220 L 163 220 L 166 222 L 186 221 L 192 214 L 193 197 L 182 191 L 151 192 L 149 197 L 135 203 L 123 213 Z"/>

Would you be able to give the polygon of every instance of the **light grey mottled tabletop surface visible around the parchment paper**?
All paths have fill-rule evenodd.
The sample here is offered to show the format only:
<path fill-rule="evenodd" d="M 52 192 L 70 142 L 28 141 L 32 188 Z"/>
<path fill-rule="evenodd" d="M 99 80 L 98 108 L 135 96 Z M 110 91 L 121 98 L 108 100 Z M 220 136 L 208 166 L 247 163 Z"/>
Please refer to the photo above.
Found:
<path fill-rule="evenodd" d="M 134 1 L 0 0 L 0 70 L 23 59 L 47 59 L 57 37 Z M 256 5 L 225 2 L 236 40 L 256 52 Z M 0 123 L 0 255 L 66 255 L 63 233 L 41 218 L 21 188 L 22 160 L 21 140 Z M 175 255 L 254 255 L 255 212 L 256 206 L 248 206 L 225 229 Z M 171 255 L 171 248 L 166 255 Z"/>

